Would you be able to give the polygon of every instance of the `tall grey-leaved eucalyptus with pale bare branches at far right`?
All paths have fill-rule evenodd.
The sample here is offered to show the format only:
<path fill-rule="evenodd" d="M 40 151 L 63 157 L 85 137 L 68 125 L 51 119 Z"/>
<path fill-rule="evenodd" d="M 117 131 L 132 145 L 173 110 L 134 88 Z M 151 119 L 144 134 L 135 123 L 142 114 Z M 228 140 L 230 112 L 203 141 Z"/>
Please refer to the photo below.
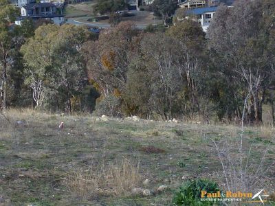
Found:
<path fill-rule="evenodd" d="M 222 6 L 208 28 L 209 47 L 223 75 L 239 85 L 246 120 L 262 122 L 262 105 L 274 77 L 274 10 L 272 0 Z M 273 12 L 273 14 L 271 14 Z"/>

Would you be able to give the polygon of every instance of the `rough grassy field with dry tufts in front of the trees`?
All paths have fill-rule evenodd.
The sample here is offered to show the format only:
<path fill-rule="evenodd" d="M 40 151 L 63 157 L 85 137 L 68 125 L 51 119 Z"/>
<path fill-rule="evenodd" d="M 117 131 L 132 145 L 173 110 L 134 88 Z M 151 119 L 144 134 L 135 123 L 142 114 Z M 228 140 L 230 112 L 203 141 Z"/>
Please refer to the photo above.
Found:
<path fill-rule="evenodd" d="M 234 150 L 239 135 L 236 126 L 8 111 L 0 114 L 0 205 L 171 205 L 189 179 L 225 186 L 212 140 Z M 265 160 L 261 184 L 274 191 L 274 130 L 245 128 L 243 150 L 250 147 L 252 165 Z"/>

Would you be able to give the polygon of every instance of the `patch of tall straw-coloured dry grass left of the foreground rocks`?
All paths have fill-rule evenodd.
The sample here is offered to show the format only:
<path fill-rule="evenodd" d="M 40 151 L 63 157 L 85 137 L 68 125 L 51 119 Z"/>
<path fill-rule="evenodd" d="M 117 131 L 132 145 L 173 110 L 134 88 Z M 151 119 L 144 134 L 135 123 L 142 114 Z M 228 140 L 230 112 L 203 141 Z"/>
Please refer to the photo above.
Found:
<path fill-rule="evenodd" d="M 115 165 L 72 172 L 63 183 L 69 192 L 83 199 L 92 195 L 124 196 L 140 185 L 142 176 L 139 170 L 139 163 L 135 165 L 124 158 Z"/>

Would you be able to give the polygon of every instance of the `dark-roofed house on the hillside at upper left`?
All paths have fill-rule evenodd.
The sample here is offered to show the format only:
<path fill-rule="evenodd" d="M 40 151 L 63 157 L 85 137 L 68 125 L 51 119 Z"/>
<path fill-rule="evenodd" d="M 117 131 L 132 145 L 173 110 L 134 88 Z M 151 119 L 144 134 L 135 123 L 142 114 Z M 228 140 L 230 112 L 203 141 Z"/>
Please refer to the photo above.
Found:
<path fill-rule="evenodd" d="M 20 1 L 20 0 L 19 0 Z M 17 25 L 21 25 L 23 19 L 46 19 L 52 20 L 55 24 L 61 25 L 64 22 L 64 15 L 58 14 L 54 3 L 27 3 L 21 7 L 21 16 L 15 21 Z"/>

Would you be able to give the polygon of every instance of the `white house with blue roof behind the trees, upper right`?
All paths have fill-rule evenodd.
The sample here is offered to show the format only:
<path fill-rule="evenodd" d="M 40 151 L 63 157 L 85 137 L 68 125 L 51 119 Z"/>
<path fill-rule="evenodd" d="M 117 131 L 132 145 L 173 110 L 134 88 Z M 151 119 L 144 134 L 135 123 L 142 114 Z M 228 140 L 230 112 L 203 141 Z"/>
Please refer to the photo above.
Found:
<path fill-rule="evenodd" d="M 195 16 L 197 21 L 201 24 L 203 31 L 206 32 L 214 17 L 214 13 L 217 11 L 217 8 L 217 6 L 195 8 L 192 10 L 187 10 L 186 15 Z"/>

